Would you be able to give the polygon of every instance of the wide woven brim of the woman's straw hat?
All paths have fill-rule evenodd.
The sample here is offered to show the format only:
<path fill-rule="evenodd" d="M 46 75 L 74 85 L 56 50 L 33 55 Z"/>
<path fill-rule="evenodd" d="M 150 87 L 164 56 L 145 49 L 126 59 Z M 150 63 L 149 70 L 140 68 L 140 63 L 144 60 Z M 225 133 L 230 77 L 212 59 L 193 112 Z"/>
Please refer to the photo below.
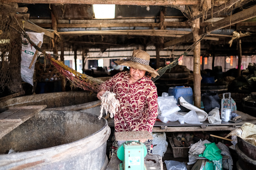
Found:
<path fill-rule="evenodd" d="M 144 64 L 140 64 L 140 63 L 136 63 L 133 61 L 125 61 L 125 60 L 119 60 L 119 61 L 115 61 L 116 64 L 121 65 L 121 66 L 127 66 L 127 67 L 133 67 L 133 68 L 137 68 L 137 69 L 141 69 L 141 70 L 145 70 L 147 72 L 151 73 L 151 76 L 153 78 L 155 78 L 158 74 L 158 72 L 156 72 L 152 67 L 150 67 L 149 65 L 144 65 Z"/>

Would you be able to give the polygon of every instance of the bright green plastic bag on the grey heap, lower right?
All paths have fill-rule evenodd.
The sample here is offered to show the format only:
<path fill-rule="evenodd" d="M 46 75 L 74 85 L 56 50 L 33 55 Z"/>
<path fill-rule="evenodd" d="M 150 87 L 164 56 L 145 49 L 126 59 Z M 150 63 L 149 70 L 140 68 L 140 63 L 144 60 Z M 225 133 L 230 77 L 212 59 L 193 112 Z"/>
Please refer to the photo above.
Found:
<path fill-rule="evenodd" d="M 200 157 L 205 157 L 208 160 L 219 160 L 223 156 L 221 155 L 221 150 L 215 145 L 215 143 L 205 143 L 204 146 L 206 147 Z"/>

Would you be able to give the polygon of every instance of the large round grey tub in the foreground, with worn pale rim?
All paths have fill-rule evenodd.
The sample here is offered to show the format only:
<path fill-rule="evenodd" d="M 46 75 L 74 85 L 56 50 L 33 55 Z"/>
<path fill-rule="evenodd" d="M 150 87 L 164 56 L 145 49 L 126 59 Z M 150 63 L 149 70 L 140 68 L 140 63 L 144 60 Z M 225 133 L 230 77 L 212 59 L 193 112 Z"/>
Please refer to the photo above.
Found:
<path fill-rule="evenodd" d="M 0 169 L 103 170 L 109 135 L 108 122 L 96 115 L 41 111 L 0 139 Z"/>

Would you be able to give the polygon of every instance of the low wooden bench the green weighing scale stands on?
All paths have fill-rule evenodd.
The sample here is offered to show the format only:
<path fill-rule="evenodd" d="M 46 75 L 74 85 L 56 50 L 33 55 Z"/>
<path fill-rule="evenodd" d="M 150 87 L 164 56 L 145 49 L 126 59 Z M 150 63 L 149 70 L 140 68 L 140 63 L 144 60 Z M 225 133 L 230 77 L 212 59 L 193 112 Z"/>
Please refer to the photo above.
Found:
<path fill-rule="evenodd" d="M 122 161 L 118 159 L 116 154 L 114 154 L 111 157 L 106 170 L 118 170 L 118 165 L 120 163 L 122 163 Z M 144 164 L 147 169 L 163 170 L 162 157 L 160 155 L 146 155 L 144 158 Z"/>

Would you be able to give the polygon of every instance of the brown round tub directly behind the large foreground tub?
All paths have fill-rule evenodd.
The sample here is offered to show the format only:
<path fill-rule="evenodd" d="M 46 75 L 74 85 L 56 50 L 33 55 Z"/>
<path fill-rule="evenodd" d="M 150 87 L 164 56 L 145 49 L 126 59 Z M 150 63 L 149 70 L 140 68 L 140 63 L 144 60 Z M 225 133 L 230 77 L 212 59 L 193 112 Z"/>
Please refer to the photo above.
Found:
<path fill-rule="evenodd" d="M 0 108 L 28 105 L 47 105 L 46 109 L 77 111 L 88 102 L 97 101 L 97 95 L 89 91 L 68 91 L 22 96 L 0 102 Z"/>

